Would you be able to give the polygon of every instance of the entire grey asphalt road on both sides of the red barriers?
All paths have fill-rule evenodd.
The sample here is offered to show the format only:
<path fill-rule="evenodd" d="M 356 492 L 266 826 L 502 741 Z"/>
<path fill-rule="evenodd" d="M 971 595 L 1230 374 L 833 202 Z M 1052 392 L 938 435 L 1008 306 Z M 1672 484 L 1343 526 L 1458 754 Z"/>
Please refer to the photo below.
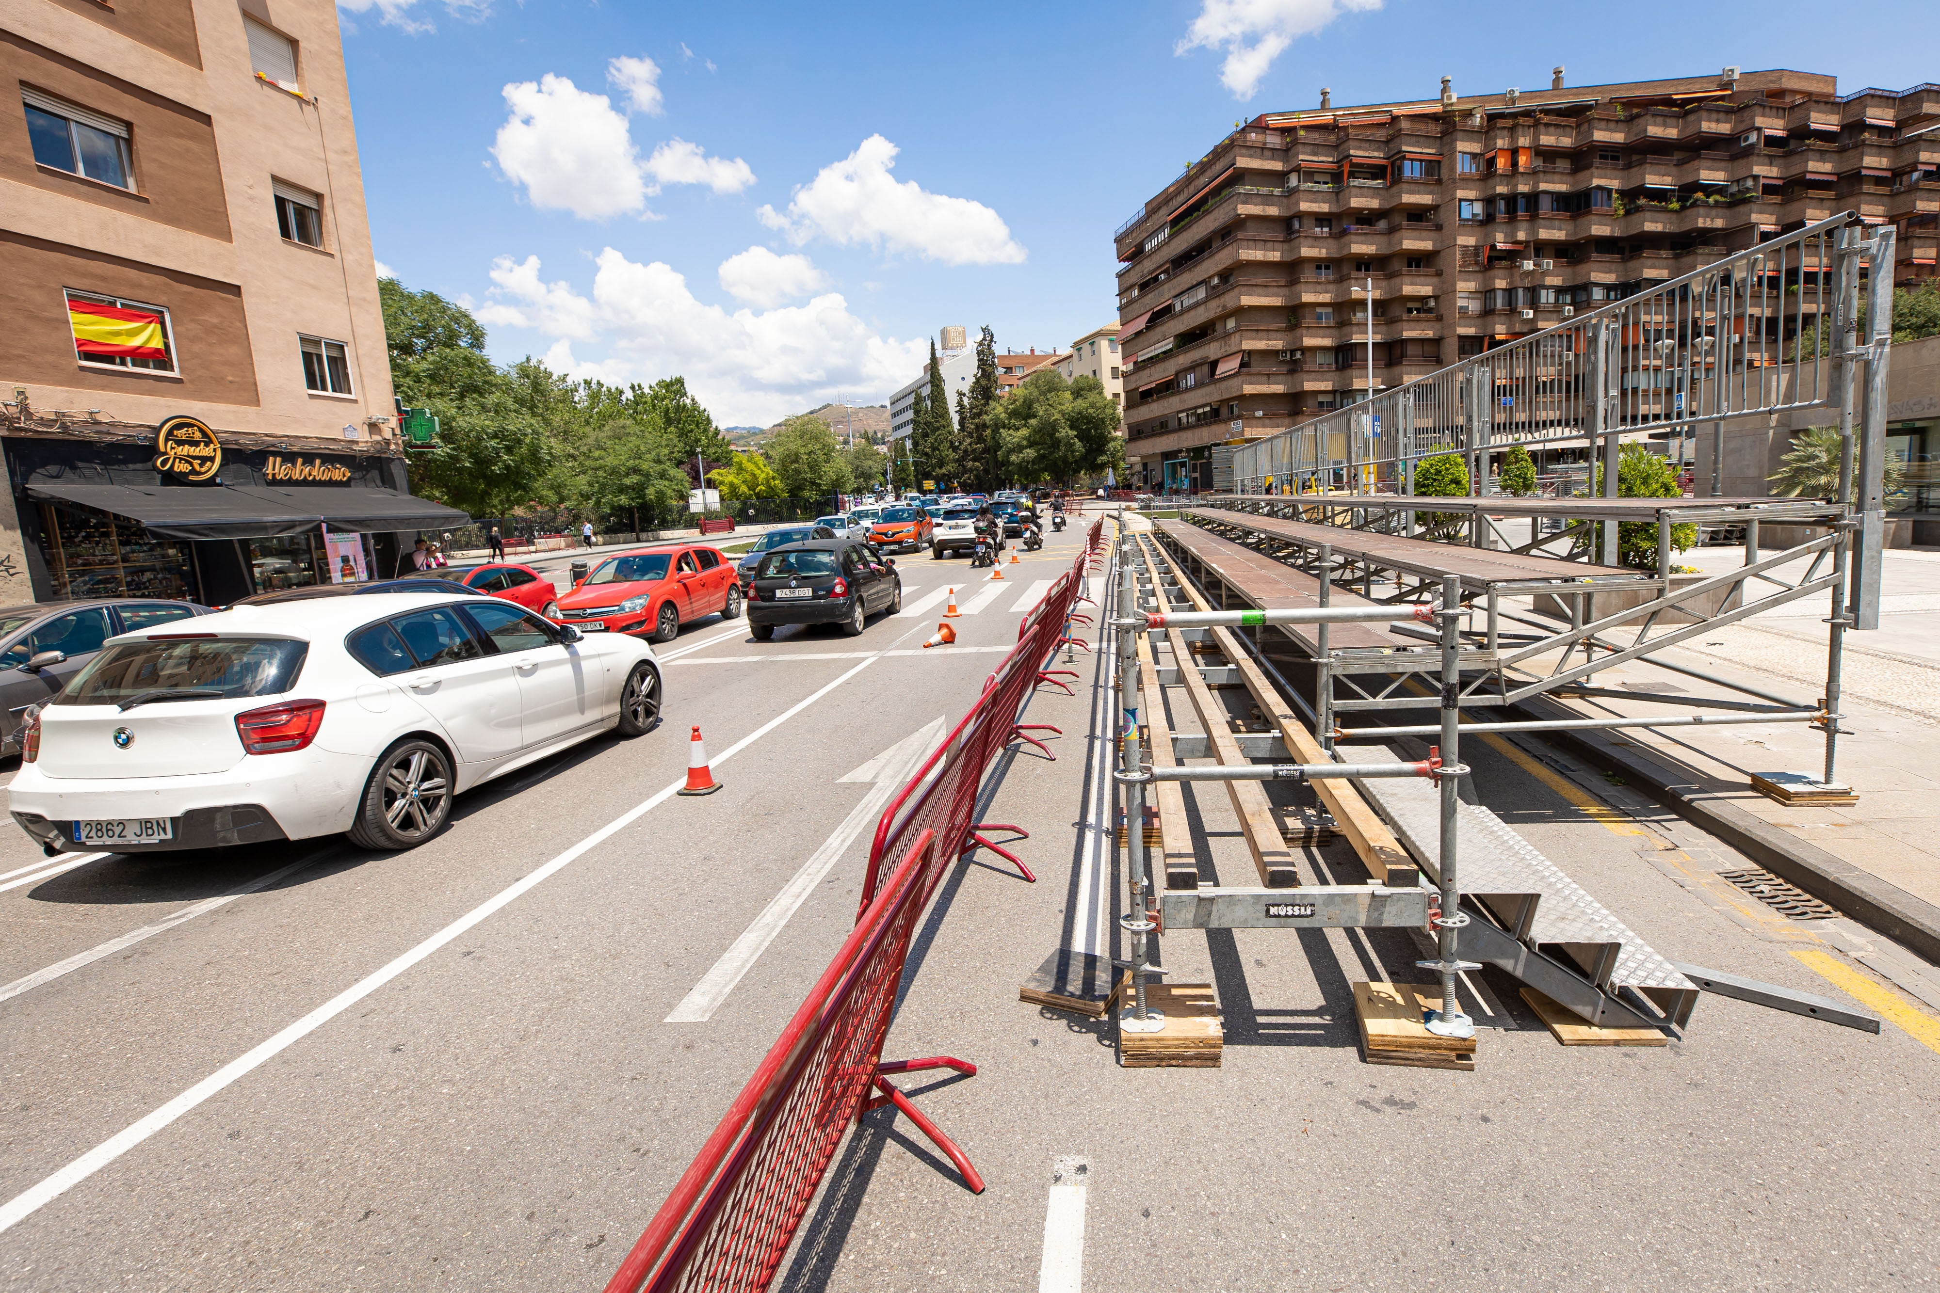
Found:
<path fill-rule="evenodd" d="M 976 611 L 947 649 L 916 649 L 939 607 L 854 640 L 691 626 L 662 649 L 656 733 L 483 787 L 411 853 L 45 874 L 0 837 L 0 1287 L 598 1289 L 848 932 L 885 764 L 962 715 L 1077 533 L 995 597 L 958 585 Z M 900 570 L 912 607 L 966 576 Z M 1668 1047 L 1562 1049 L 1490 971 L 1476 1072 L 1374 1068 L 1346 983 L 1426 977 L 1405 934 L 1180 930 L 1162 956 L 1218 987 L 1222 1068 L 1125 1070 L 1108 1027 L 1020 1004 L 1050 950 L 1110 940 L 1123 892 L 1081 820 L 1110 698 L 1077 661 L 1077 696 L 1030 706 L 1063 727 L 1057 762 L 1024 748 L 987 789 L 1040 882 L 960 863 L 889 1033 L 890 1056 L 980 1066 L 904 1086 L 989 1188 L 871 1113 L 776 1287 L 1940 1281 L 1940 1031 L 1915 1035 L 1917 1002 L 1915 1031 L 1872 1037 L 1705 998 Z M 671 797 L 689 723 L 708 799 Z M 1535 741 L 1463 754 L 1472 793 L 1661 952 L 1839 996 L 1812 952 L 1903 996 L 1851 958 L 1864 930 L 1775 917 L 1715 878 L 1742 859 L 1628 789 Z M 1244 882 L 1224 793 L 1191 804 L 1207 878 Z M 1339 851 L 1306 867 L 1360 878 Z"/>

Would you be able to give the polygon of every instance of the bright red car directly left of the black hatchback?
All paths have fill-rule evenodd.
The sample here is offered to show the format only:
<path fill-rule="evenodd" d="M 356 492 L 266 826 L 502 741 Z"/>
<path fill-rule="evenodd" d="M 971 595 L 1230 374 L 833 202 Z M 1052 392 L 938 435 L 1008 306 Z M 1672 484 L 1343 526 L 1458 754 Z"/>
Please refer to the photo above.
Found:
<path fill-rule="evenodd" d="M 681 624 L 706 615 L 741 615 L 741 583 L 718 549 L 671 545 L 609 556 L 570 593 L 561 593 L 557 620 L 580 632 L 646 634 L 673 642 Z"/>

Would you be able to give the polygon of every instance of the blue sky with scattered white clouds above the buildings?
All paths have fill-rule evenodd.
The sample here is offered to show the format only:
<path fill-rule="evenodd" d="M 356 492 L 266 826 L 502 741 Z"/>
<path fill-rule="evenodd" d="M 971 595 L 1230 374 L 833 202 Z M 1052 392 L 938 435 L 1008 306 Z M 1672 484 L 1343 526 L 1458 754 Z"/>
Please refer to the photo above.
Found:
<path fill-rule="evenodd" d="M 1940 79 L 1932 4 L 1829 12 L 340 0 L 378 262 L 468 300 L 501 361 L 679 372 L 724 425 L 881 403 L 943 324 L 1051 349 L 1114 320 L 1112 231 L 1321 85 Z"/>

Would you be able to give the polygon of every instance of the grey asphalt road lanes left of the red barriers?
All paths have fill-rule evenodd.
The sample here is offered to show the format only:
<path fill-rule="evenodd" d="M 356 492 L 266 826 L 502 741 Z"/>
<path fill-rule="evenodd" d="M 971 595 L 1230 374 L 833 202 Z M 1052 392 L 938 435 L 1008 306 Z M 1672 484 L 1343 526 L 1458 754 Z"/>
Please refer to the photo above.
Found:
<path fill-rule="evenodd" d="M 693 624 L 658 731 L 489 783 L 409 853 L 47 874 L 0 836 L 0 1287 L 599 1287 L 850 930 L 887 787 L 844 777 L 927 752 L 1077 543 L 1001 583 L 898 558 L 906 611 L 861 638 Z M 958 580 L 958 644 L 920 649 Z M 671 795 L 693 723 L 706 799 Z"/>

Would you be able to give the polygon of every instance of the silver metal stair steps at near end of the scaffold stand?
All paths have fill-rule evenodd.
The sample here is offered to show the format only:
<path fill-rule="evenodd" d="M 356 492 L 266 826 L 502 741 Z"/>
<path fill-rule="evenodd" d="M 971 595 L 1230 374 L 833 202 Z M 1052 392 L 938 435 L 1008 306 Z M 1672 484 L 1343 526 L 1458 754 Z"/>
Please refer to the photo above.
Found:
<path fill-rule="evenodd" d="M 1403 762 L 1381 744 L 1341 746 L 1335 754 L 1352 764 Z M 1441 806 L 1434 783 L 1370 779 L 1356 785 L 1395 828 L 1403 847 L 1422 863 L 1422 870 L 1428 876 L 1438 874 Z M 1455 830 L 1461 845 L 1459 880 L 1465 905 L 1498 927 L 1465 929 L 1463 956 L 1500 965 L 1591 1024 L 1651 1027 L 1670 1022 L 1682 1027 L 1690 1020 L 1692 1006 L 1698 1004 L 1698 985 L 1653 952 L 1556 863 L 1509 830 L 1502 818 L 1465 803 L 1457 810 Z M 1505 938 L 1492 938 L 1492 932 Z M 1542 981 L 1536 981 L 1533 975 L 1538 971 L 1521 948 L 1548 962 L 1562 979 L 1550 969 L 1540 969 Z M 1641 994 L 1665 1018 L 1637 1016 L 1635 1024 L 1616 1024 L 1618 1016 L 1633 1014 L 1622 1004 L 1626 991 Z"/>

